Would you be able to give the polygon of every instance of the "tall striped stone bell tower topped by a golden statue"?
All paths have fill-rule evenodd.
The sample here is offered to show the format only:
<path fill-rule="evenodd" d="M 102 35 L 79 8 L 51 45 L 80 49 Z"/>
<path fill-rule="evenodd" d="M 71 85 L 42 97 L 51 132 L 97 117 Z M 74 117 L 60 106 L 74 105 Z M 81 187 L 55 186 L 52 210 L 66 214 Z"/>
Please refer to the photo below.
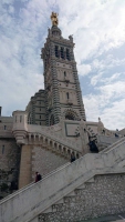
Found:
<path fill-rule="evenodd" d="M 41 50 L 44 65 L 46 125 L 56 124 L 60 118 L 85 120 L 85 110 L 74 59 L 73 37 L 62 37 L 58 13 L 51 14 L 52 27 Z"/>

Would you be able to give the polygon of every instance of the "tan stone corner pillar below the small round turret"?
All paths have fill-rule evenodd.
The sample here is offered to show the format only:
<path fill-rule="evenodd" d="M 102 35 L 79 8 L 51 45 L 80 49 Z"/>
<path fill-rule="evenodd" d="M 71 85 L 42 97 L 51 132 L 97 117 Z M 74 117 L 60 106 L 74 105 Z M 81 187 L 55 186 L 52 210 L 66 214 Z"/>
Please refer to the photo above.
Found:
<path fill-rule="evenodd" d="M 20 175 L 19 175 L 19 189 L 28 185 L 32 182 L 31 176 L 31 153 L 32 147 L 31 145 L 22 145 L 21 150 L 21 162 L 20 162 Z"/>

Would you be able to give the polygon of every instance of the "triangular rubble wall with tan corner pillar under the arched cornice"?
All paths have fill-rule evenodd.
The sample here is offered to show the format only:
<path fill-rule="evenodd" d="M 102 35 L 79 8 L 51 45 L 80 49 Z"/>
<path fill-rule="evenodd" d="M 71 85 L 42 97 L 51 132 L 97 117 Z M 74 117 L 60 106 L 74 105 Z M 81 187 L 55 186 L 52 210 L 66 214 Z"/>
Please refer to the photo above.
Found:
<path fill-rule="evenodd" d="M 22 145 L 19 189 L 35 180 L 35 172 L 42 176 L 65 164 L 70 160 L 44 149 L 43 145 Z"/>

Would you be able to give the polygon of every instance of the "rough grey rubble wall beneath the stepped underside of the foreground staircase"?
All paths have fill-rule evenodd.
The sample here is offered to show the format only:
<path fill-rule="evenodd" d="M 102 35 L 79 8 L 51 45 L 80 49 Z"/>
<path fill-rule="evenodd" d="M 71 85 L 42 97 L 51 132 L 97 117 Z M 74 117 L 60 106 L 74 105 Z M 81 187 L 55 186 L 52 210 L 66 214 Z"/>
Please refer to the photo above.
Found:
<path fill-rule="evenodd" d="M 53 204 L 52 212 L 39 215 L 39 222 L 79 222 L 125 211 L 125 174 L 95 175 L 84 189 Z"/>

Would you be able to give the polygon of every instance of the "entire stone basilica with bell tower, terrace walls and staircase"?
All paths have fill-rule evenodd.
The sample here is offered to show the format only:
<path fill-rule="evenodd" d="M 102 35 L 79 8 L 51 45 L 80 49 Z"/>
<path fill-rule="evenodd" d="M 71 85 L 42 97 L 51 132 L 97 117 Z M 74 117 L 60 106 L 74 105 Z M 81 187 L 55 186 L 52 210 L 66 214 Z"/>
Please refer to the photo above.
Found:
<path fill-rule="evenodd" d="M 41 49 L 44 90 L 12 117 L 0 109 L 1 222 L 75 222 L 125 209 L 125 129 L 86 120 L 73 37 L 63 38 L 58 13 L 51 21 Z"/>

